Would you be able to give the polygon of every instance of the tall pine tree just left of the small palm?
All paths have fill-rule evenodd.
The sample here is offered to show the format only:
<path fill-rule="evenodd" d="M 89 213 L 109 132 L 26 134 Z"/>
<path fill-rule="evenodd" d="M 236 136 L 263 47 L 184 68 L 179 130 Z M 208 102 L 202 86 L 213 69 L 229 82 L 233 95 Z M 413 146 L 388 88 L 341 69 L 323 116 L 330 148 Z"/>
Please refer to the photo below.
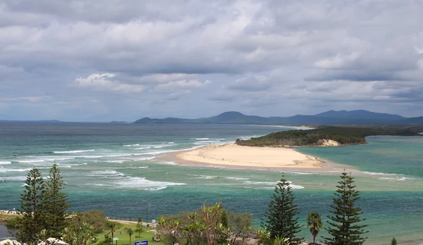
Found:
<path fill-rule="evenodd" d="M 265 219 L 262 219 L 262 227 L 270 232 L 271 239 L 276 236 L 289 238 L 290 244 L 300 244 L 304 240 L 304 237 L 295 236 L 300 232 L 301 226 L 298 225 L 296 218 L 300 212 L 294 200 L 295 196 L 289 182 L 282 175 L 271 196 L 269 210 L 264 214 Z"/>

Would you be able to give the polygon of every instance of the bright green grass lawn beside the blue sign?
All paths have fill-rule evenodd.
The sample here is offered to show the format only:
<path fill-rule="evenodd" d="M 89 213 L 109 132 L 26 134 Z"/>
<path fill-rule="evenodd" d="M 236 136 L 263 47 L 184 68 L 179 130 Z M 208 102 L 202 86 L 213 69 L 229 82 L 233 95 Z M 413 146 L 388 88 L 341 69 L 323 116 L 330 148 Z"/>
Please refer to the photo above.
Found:
<path fill-rule="evenodd" d="M 126 227 L 132 228 L 132 230 L 135 230 L 136 224 L 120 224 L 120 225 L 121 225 L 121 227 L 116 229 L 116 232 L 114 233 L 114 237 L 117 237 L 119 239 L 118 243 L 117 243 L 118 245 L 133 245 L 135 241 L 145 241 L 145 240 L 147 240 L 149 242 L 149 244 L 163 245 L 162 242 L 154 242 L 154 243 L 152 242 L 152 237 L 154 237 L 154 233 L 147 232 L 147 230 L 151 230 L 151 229 L 146 228 L 146 227 L 144 227 L 145 232 L 142 232 L 140 237 L 138 237 L 138 233 L 134 232 L 134 234 L 131 237 L 131 243 L 132 244 L 129 244 L 129 235 L 125 234 L 125 232 L 123 230 L 125 230 Z M 121 234 L 121 232 L 122 232 L 122 234 Z M 104 235 L 107 234 L 107 233 L 109 233 L 108 230 L 105 230 L 104 232 L 100 233 L 97 236 L 99 241 L 96 242 L 95 244 L 98 244 L 100 241 L 103 241 Z M 116 241 L 114 242 L 114 244 L 116 244 Z"/>

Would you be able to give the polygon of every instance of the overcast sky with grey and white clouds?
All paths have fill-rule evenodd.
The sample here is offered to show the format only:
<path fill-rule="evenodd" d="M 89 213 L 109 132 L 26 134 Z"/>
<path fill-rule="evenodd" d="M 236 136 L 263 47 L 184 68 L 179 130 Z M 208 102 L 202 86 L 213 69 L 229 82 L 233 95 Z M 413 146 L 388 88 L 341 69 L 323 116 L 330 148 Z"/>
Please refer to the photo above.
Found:
<path fill-rule="evenodd" d="M 423 115 L 423 1 L 0 0 L 0 119 Z"/>

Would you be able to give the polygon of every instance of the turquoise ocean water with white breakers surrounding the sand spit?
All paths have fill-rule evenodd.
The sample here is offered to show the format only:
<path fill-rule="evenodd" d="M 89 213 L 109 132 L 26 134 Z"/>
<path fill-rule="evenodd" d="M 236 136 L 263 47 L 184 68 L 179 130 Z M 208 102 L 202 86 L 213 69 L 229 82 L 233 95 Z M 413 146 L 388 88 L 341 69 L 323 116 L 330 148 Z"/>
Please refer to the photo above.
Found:
<path fill-rule="evenodd" d="M 0 210 L 19 208 L 28 170 L 39 168 L 47 176 L 58 163 L 72 211 L 102 209 L 110 218 L 152 220 L 221 199 L 230 211 L 252 213 L 258 226 L 281 171 L 180 165 L 160 156 L 290 129 L 0 122 Z M 365 244 L 388 244 L 392 237 L 399 244 L 423 244 L 423 137 L 368 137 L 367 142 L 298 151 L 359 170 L 353 177 L 369 225 Z M 313 210 L 326 220 L 338 173 L 285 175 L 293 182 L 300 222 Z M 312 239 L 307 227 L 301 234 Z"/>

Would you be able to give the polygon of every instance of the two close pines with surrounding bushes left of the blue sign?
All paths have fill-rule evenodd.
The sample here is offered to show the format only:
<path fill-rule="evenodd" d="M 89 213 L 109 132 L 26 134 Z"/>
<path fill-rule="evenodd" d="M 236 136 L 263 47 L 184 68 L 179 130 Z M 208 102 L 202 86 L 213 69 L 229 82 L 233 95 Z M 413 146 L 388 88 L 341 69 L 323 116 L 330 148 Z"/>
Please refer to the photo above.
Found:
<path fill-rule="evenodd" d="M 58 165 L 52 165 L 47 180 L 37 168 L 33 168 L 28 172 L 24 185 L 18 209 L 20 215 L 6 223 L 8 228 L 16 230 L 13 236 L 20 244 L 53 245 L 55 241 L 49 238 L 55 238 L 69 245 L 87 245 L 97 242 L 98 234 L 104 230 L 109 232 L 99 245 L 112 244 L 119 224 L 109 222 L 103 211 L 68 213 L 71 204 L 63 192 L 64 182 Z M 133 232 L 142 232 L 142 229 L 141 218 L 138 218 L 137 228 L 125 229 L 125 233 L 131 236 Z"/>

